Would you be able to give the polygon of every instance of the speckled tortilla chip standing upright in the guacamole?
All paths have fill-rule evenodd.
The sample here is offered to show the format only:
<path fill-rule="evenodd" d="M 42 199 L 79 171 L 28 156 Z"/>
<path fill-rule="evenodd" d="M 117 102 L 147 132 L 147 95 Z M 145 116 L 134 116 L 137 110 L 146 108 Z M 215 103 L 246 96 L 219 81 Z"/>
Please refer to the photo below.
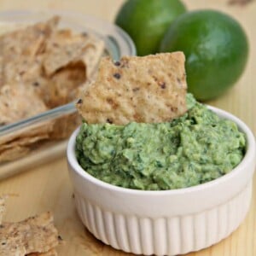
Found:
<path fill-rule="evenodd" d="M 77 103 L 87 123 L 159 123 L 186 112 L 182 52 L 103 58 L 96 82 Z"/>

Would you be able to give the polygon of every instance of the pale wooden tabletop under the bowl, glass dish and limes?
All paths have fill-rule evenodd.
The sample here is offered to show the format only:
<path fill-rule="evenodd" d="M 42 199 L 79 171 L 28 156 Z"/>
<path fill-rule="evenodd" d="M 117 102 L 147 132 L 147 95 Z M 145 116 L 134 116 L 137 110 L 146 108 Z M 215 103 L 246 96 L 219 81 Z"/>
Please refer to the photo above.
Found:
<path fill-rule="evenodd" d="M 96 15 L 112 21 L 121 0 L 1 0 L 0 11 L 6 9 L 67 9 Z M 228 5 L 227 0 L 186 0 L 189 9 L 220 9 L 240 20 L 250 41 L 250 58 L 247 70 L 236 86 L 218 100 L 208 102 L 236 114 L 256 133 L 256 2 L 246 6 Z M 0 170 L 1 172 L 1 170 Z M 230 237 L 217 245 L 189 256 L 253 256 L 256 255 L 256 181 L 253 200 L 247 218 Z M 70 183 L 66 159 L 44 166 L 31 168 L 0 183 L 0 195 L 15 194 L 8 201 L 6 221 L 18 221 L 32 214 L 52 211 L 55 224 L 66 241 L 58 248 L 59 255 L 128 255 L 105 246 L 84 229 L 73 204 L 73 189 Z"/>

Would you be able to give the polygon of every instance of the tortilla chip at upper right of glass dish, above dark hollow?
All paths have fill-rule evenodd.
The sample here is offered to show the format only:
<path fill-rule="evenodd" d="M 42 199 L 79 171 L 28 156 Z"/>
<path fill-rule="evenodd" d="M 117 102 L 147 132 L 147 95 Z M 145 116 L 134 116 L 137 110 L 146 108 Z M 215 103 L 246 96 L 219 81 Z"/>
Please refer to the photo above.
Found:
<path fill-rule="evenodd" d="M 68 30 L 55 32 L 46 48 L 44 59 L 46 75 L 50 76 L 61 67 L 82 61 L 84 58 L 86 65 L 95 66 L 94 62 L 97 62 L 102 55 L 103 45 L 101 40 L 87 34 L 73 34 Z M 93 54 L 90 53 L 91 51 Z"/>

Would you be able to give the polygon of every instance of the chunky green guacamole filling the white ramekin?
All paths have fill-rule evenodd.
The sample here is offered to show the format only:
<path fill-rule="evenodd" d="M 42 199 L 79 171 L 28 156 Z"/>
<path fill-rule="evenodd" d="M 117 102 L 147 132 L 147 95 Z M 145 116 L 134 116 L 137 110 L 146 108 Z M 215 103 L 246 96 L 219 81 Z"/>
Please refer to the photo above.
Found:
<path fill-rule="evenodd" d="M 84 123 L 76 139 L 79 164 L 106 183 L 143 190 L 195 186 L 230 172 L 245 154 L 244 134 L 191 95 L 188 108 L 160 124 Z"/>

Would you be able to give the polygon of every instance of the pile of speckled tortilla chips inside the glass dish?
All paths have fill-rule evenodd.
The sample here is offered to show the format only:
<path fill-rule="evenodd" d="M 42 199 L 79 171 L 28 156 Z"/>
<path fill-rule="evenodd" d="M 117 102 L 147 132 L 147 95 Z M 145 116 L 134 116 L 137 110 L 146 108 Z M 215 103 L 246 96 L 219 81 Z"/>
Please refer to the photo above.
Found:
<path fill-rule="evenodd" d="M 19 26 L 0 36 L 0 126 L 72 102 L 95 75 L 103 41 L 59 29 L 60 19 Z M 73 114 L 2 139 L 0 162 L 26 154 L 38 142 L 67 137 L 77 124 Z"/>

